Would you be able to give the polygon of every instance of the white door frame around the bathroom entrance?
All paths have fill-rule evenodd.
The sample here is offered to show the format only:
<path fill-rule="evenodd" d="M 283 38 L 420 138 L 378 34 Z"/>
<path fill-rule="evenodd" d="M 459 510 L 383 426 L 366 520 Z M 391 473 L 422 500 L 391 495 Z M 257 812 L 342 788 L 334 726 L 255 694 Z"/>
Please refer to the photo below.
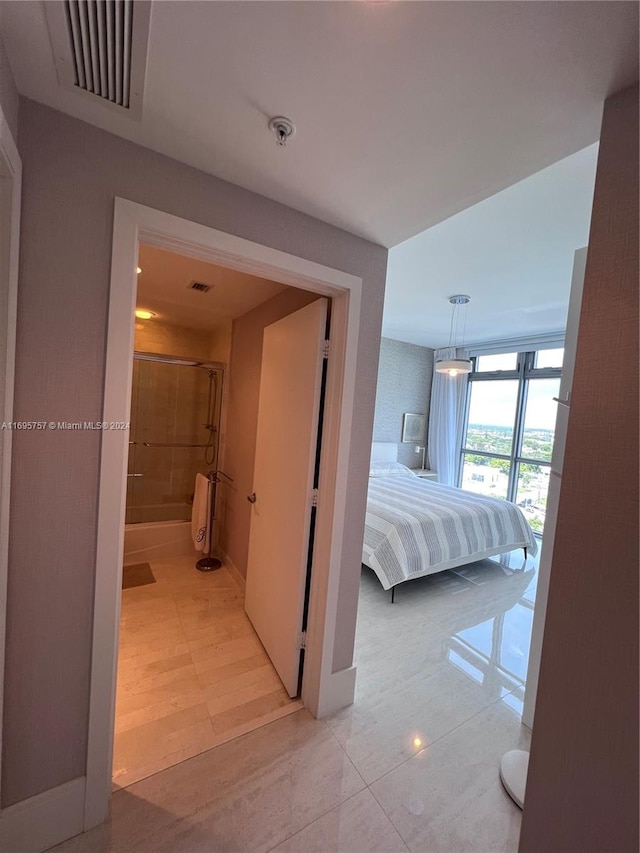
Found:
<path fill-rule="evenodd" d="M 332 672 L 356 383 L 362 279 L 286 252 L 146 207 L 114 204 L 103 423 L 128 422 L 138 247 L 141 242 L 332 299 L 302 700 L 324 716 L 353 701 L 355 667 Z M 128 433 L 101 433 L 93 646 L 84 828 L 102 823 L 111 795 Z"/>

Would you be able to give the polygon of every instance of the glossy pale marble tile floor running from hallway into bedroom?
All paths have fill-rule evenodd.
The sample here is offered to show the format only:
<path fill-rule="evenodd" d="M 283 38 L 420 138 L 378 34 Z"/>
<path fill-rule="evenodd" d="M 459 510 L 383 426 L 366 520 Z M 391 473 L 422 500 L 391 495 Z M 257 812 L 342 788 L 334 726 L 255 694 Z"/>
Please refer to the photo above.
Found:
<path fill-rule="evenodd" d="M 498 765 L 529 744 L 537 566 L 507 562 L 413 581 L 394 605 L 363 570 L 353 706 L 297 711 L 118 791 L 106 824 L 56 850 L 515 853 Z"/>

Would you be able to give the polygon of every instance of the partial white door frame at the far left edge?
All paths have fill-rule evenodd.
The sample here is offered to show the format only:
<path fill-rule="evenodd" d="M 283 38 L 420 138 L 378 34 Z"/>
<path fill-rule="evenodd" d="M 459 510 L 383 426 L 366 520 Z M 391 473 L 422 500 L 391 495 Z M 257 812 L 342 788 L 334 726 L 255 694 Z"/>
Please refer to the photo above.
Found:
<path fill-rule="evenodd" d="M 9 251 L 0 263 L 0 294 L 6 294 L 6 314 L 0 310 L 0 423 L 13 421 L 16 362 L 16 317 L 20 247 L 22 160 L 0 108 L 0 181 L 9 185 L 9 204 L 0 208 L 0 246 Z M 2 341 L 4 340 L 4 345 Z M 7 584 L 9 576 L 9 507 L 11 501 L 12 431 L 0 430 L 0 763 L 4 698 Z"/>

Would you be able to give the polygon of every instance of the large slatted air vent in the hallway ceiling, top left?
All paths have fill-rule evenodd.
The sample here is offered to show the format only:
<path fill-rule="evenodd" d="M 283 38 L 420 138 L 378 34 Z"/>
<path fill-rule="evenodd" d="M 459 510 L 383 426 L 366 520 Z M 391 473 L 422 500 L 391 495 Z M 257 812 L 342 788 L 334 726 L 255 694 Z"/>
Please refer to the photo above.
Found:
<path fill-rule="evenodd" d="M 151 3 L 59 0 L 44 7 L 60 85 L 141 118 Z"/>

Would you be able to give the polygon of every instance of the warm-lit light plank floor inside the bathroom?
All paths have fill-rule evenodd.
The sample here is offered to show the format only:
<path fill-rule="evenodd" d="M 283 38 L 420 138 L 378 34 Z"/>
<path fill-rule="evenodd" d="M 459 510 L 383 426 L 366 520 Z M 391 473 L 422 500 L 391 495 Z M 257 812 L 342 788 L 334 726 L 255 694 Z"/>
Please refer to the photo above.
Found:
<path fill-rule="evenodd" d="M 156 583 L 123 590 L 114 788 L 302 707 L 285 692 L 223 566 L 151 564 Z"/>

